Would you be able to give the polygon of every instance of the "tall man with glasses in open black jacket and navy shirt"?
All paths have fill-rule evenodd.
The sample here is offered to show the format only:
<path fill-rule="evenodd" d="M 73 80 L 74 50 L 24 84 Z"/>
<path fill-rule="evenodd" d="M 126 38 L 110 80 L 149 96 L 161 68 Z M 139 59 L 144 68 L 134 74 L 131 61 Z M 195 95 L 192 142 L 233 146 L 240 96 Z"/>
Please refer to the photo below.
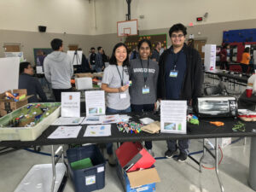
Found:
<path fill-rule="evenodd" d="M 172 46 L 160 56 L 157 95 L 162 100 L 187 100 L 191 105 L 201 96 L 203 70 L 199 52 L 184 43 L 186 34 L 183 24 L 170 28 Z M 176 140 L 169 140 L 167 147 L 166 158 L 172 158 L 178 148 L 177 160 L 187 160 L 189 139 L 178 140 L 178 145 Z"/>

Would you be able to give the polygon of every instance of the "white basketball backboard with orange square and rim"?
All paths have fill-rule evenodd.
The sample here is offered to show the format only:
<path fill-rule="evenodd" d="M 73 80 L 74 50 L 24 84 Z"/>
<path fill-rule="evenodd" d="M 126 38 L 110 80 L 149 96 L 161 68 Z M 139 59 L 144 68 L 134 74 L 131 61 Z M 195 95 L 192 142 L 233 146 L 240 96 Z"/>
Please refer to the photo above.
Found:
<path fill-rule="evenodd" d="M 117 22 L 118 37 L 137 35 L 137 20 L 124 20 Z"/>

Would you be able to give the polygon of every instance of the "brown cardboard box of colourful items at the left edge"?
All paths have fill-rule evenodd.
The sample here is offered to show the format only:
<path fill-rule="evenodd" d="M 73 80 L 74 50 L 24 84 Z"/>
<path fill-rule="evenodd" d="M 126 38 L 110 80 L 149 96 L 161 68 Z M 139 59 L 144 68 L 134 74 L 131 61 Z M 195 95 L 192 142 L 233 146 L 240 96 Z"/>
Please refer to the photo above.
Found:
<path fill-rule="evenodd" d="M 11 92 L 11 90 L 7 90 L 8 92 Z M 26 89 L 24 90 L 13 90 L 12 93 L 19 93 L 19 95 L 26 95 Z M 5 92 L 0 94 L 0 116 L 4 116 L 7 113 L 11 113 L 17 108 L 20 108 L 24 105 L 26 105 L 27 99 L 30 98 L 31 96 L 26 96 L 23 100 L 20 100 L 19 102 L 15 102 L 13 99 L 8 100 L 5 99 Z"/>

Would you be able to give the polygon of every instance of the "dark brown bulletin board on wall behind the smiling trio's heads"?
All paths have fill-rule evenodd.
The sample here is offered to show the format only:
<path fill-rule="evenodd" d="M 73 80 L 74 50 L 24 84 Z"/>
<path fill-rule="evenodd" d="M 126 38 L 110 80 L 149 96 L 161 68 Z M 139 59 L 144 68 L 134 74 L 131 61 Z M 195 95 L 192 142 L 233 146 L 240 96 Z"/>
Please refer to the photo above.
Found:
<path fill-rule="evenodd" d="M 143 39 L 148 39 L 152 44 L 152 49 L 156 46 L 157 42 L 162 44 L 162 48 L 167 48 L 167 34 L 154 34 L 154 35 L 142 35 L 142 36 L 128 36 L 125 39 L 125 45 L 128 49 L 135 49 L 138 42 Z"/>

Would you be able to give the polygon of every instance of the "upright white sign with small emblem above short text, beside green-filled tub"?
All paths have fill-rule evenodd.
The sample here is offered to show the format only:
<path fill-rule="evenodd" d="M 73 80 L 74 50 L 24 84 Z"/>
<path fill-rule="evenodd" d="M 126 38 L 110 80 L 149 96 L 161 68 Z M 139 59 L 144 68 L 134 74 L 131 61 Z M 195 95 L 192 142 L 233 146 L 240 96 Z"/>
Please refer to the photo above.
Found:
<path fill-rule="evenodd" d="M 61 93 L 61 117 L 80 117 L 80 92 Z"/>

